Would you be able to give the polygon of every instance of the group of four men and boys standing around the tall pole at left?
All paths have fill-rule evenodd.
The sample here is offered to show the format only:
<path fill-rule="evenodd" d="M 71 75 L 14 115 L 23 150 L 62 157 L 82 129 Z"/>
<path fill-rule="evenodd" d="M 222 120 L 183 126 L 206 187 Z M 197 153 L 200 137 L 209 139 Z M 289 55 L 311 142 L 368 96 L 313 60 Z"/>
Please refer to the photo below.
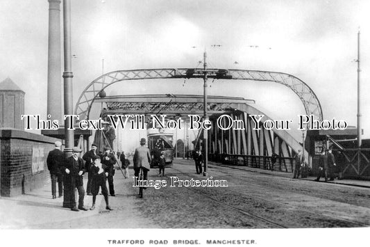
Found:
<path fill-rule="evenodd" d="M 97 145 L 92 144 L 90 151 L 80 157 L 81 149 L 73 148 L 72 156 L 65 158 L 65 153 L 60 150 L 62 143 L 56 141 L 55 149 L 49 152 L 47 157 L 47 167 L 51 175 L 51 193 L 53 199 L 56 199 L 56 183 L 58 182 L 59 197 L 63 196 L 64 190 L 69 194 L 69 205 L 72 211 L 87 211 L 84 206 L 85 189 L 83 188 L 83 175 L 87 173 L 88 196 L 92 196 L 92 207 L 95 208 L 96 195 L 101 193 L 106 200 L 106 209 L 112 210 L 108 201 L 108 189 L 106 181 L 109 184 L 110 196 L 115 196 L 115 187 L 113 176 L 115 175 L 114 165 L 117 163 L 115 155 L 105 148 L 102 155 L 96 154 Z M 78 206 L 76 205 L 75 190 L 78 191 Z"/>

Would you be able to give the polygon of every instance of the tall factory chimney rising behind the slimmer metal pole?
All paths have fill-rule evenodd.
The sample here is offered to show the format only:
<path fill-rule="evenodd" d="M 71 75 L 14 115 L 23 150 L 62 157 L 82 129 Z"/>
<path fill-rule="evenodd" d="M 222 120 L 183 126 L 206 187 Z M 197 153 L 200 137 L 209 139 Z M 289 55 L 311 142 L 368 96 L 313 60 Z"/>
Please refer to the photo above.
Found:
<path fill-rule="evenodd" d="M 49 0 L 47 64 L 47 118 L 62 122 L 62 73 L 60 58 L 60 0 Z M 50 117 L 49 117 L 50 115 Z"/>

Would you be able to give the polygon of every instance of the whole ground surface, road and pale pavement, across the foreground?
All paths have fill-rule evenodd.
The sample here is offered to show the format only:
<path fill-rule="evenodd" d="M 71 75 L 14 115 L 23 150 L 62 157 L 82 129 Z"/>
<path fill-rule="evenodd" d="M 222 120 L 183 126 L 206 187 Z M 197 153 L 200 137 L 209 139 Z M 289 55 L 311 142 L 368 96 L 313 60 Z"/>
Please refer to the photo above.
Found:
<path fill-rule="evenodd" d="M 131 163 L 132 164 L 132 163 Z M 204 180 L 195 174 L 194 161 L 176 159 L 165 177 L 151 169 L 149 180 L 166 180 L 161 189 L 137 196 L 133 179 L 116 171 L 114 209 L 106 212 L 102 196 L 94 211 L 62 208 L 62 198 L 51 199 L 50 184 L 27 195 L 0 198 L 2 229 L 92 228 L 355 228 L 370 225 L 370 182 L 341 180 L 344 184 L 294 180 L 292 174 L 210 163 L 208 177 L 226 180 L 227 187 L 169 186 L 171 177 Z M 130 170 L 133 175 L 133 170 Z M 85 179 L 86 180 L 86 179 Z M 353 184 L 353 185 L 346 185 Z M 91 196 L 85 196 L 90 207 Z M 3 210 L 1 210 L 3 212 Z M 32 214 L 29 214 L 32 212 Z"/>

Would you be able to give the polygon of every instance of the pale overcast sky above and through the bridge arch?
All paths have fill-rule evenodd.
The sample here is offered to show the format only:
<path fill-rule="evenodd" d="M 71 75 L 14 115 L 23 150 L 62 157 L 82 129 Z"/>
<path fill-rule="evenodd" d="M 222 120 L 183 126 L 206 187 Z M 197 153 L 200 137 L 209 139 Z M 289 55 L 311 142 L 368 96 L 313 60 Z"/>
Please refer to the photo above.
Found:
<path fill-rule="evenodd" d="M 26 92 L 26 113 L 45 116 L 49 3 L 1 0 L 0 6 L 0 81 L 10 77 Z M 101 75 L 102 59 L 104 72 L 196 67 L 205 48 L 210 67 L 293 74 L 314 90 L 324 118 L 356 125 L 354 60 L 360 26 L 362 126 L 369 138 L 369 9 L 367 0 L 72 0 L 74 104 Z M 298 97 L 279 84 L 232 80 L 211 85 L 209 95 L 255 99 L 255 106 L 271 118 L 295 120 L 304 113 Z M 106 91 L 120 95 L 202 90 L 202 82 L 193 79 L 185 86 L 183 80 L 126 81 Z"/>

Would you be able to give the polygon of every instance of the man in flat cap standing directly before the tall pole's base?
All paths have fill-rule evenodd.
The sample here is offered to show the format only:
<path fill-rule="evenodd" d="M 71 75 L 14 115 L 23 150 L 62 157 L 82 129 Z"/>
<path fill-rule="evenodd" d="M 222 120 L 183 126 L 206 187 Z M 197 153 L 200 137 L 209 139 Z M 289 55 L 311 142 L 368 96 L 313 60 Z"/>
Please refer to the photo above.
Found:
<path fill-rule="evenodd" d="M 85 173 L 85 166 L 83 164 L 83 159 L 79 157 L 81 149 L 73 148 L 72 156 L 67 158 L 63 171 L 65 172 L 66 181 L 70 184 L 71 189 L 71 210 L 79 211 L 87 209 L 83 206 L 83 198 L 85 197 L 85 189 L 83 189 L 83 174 Z M 78 191 L 78 208 L 76 207 L 76 189 Z"/>

